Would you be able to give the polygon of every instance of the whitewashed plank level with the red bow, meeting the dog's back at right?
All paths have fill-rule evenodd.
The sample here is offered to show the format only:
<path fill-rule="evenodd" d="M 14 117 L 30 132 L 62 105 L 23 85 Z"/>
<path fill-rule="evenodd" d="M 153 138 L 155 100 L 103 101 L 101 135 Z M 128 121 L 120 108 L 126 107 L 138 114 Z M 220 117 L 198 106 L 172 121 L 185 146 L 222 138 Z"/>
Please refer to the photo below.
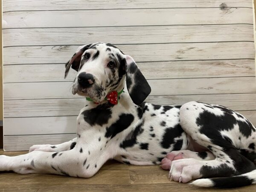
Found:
<path fill-rule="evenodd" d="M 255 98 L 256 93 L 172 95 L 148 96 L 146 102 L 154 103 L 157 105 L 183 105 L 189 101 L 200 101 L 205 103 L 224 105 L 236 111 L 244 111 L 256 110 Z M 20 119 L 23 118 L 12 119 L 13 117 L 77 116 L 81 108 L 85 105 L 85 102 L 85 98 L 5 100 L 4 111 L 5 117 L 8 118 L 6 121 L 12 122 L 12 120 L 14 120 L 14 124 L 16 120 L 20 121 Z M 20 124 L 20 122 L 18 124 Z M 49 126 L 50 128 L 52 128 L 52 126 L 57 127 L 57 125 Z M 22 128 L 22 130 L 23 129 L 24 128 Z"/>

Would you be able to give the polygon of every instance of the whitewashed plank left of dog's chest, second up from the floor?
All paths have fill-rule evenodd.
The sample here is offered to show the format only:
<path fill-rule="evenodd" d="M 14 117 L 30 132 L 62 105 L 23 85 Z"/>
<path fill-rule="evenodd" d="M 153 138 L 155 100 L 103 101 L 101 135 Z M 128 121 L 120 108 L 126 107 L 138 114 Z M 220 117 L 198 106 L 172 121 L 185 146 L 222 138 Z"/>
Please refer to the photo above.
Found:
<path fill-rule="evenodd" d="M 6 118 L 5 135 L 76 133 L 76 116 Z"/>

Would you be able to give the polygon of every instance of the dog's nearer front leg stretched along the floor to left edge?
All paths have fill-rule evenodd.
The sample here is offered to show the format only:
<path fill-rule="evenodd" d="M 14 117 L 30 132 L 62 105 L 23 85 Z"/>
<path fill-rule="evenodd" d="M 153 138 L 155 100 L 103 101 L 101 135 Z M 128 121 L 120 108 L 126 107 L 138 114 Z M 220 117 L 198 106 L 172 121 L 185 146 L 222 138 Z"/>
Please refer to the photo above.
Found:
<path fill-rule="evenodd" d="M 110 157 L 106 151 L 93 151 L 93 146 L 76 146 L 63 152 L 32 151 L 15 157 L 0 156 L 0 171 L 20 174 L 51 173 L 72 177 L 91 177 Z M 90 151 L 87 150 L 90 148 Z"/>

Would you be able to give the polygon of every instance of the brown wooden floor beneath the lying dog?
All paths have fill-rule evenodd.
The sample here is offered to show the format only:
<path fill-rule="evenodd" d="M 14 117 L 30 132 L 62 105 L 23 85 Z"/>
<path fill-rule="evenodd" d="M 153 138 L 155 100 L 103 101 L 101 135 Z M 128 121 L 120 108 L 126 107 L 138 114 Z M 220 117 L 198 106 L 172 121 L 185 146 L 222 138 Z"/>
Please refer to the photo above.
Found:
<path fill-rule="evenodd" d="M 9 156 L 25 154 L 3 152 Z M 18 175 L 12 172 L 0 174 L 0 191 L 230 191 L 198 188 L 189 184 L 169 181 L 168 172 L 160 166 L 131 166 L 108 161 L 99 172 L 89 179 L 64 177 L 59 175 L 29 174 Z M 235 192 L 255 192 L 256 185 L 233 189 Z"/>

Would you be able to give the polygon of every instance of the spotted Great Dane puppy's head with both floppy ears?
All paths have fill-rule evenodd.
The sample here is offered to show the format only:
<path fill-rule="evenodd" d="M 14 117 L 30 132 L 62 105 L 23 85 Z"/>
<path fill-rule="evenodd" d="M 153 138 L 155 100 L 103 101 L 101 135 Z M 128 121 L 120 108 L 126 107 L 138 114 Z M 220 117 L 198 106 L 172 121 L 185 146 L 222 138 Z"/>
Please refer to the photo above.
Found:
<path fill-rule="evenodd" d="M 134 59 L 112 44 L 96 43 L 79 47 L 66 63 L 65 77 L 72 67 L 78 73 L 73 82 L 73 94 L 102 102 L 109 92 L 125 86 L 136 105 L 151 92 Z"/>

